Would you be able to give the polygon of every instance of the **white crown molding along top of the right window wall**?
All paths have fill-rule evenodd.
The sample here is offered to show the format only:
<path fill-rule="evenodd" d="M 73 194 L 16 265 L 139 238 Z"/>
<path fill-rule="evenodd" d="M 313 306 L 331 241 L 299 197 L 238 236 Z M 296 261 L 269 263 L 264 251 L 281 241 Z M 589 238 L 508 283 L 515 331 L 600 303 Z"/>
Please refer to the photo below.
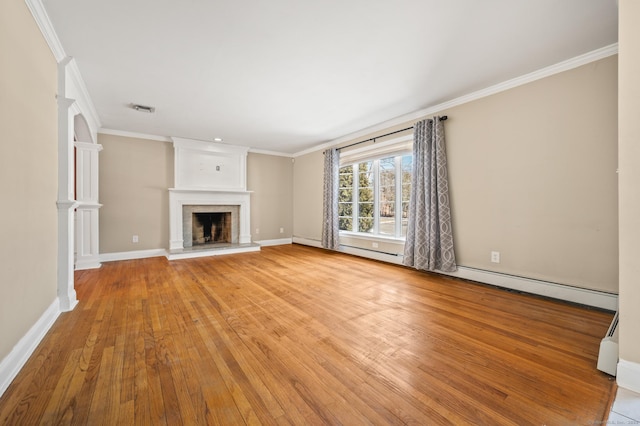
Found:
<path fill-rule="evenodd" d="M 323 143 L 321 145 L 317 145 L 315 147 L 305 149 L 304 151 L 297 152 L 292 155 L 292 157 L 300 157 L 301 155 L 310 154 L 312 152 L 325 150 L 327 148 L 334 147 L 344 142 L 349 142 L 354 139 L 362 138 L 364 136 L 371 135 L 372 133 L 379 132 L 382 130 L 389 129 L 390 127 L 397 126 L 399 124 L 407 123 L 410 121 L 416 121 L 427 117 L 431 114 L 436 114 L 443 112 L 448 108 L 453 108 L 459 105 L 466 104 L 471 101 L 475 101 L 481 98 L 485 98 L 487 96 L 495 95 L 496 93 L 504 92 L 505 90 L 513 89 L 518 86 L 522 86 L 527 83 L 534 82 L 536 80 L 540 80 L 545 77 L 550 77 L 554 74 L 558 74 L 564 71 L 571 70 L 573 68 L 580 67 L 582 65 L 586 65 L 591 62 L 598 61 L 600 59 L 607 58 L 609 56 L 613 56 L 618 53 L 618 43 L 611 44 L 609 46 L 602 47 L 600 49 L 593 50 L 591 52 L 585 53 L 583 55 L 576 56 L 571 59 L 567 59 L 566 61 L 558 62 L 557 64 L 539 69 L 537 71 L 531 72 L 529 74 L 525 74 L 520 77 L 512 78 L 510 80 L 504 81 L 502 83 L 495 84 L 493 86 L 489 86 L 487 88 L 469 93 L 464 96 L 460 96 L 458 98 L 452 99 L 447 102 L 443 102 L 438 105 L 434 105 L 431 107 L 427 107 L 409 114 L 401 115 L 400 117 L 393 118 L 391 120 L 384 121 L 380 124 L 376 124 L 374 126 L 367 127 L 365 129 L 359 130 L 354 133 L 350 133 L 348 135 L 339 137 L 332 141 Z"/>

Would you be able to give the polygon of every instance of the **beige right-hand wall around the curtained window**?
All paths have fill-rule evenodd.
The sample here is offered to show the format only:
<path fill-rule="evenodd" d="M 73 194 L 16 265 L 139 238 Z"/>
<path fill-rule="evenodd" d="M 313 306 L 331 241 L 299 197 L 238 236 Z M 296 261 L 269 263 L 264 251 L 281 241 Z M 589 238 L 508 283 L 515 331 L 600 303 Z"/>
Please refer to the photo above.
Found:
<path fill-rule="evenodd" d="M 617 292 L 617 57 L 441 113 L 458 264 Z M 321 162 L 296 158 L 296 237 L 320 238 Z"/>

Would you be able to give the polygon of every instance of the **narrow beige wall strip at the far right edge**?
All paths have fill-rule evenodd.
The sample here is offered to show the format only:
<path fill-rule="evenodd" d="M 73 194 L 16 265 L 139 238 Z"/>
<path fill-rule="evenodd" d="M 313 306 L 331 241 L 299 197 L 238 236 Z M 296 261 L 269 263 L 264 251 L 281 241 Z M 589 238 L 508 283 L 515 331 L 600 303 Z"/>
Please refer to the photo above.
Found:
<path fill-rule="evenodd" d="M 620 358 L 640 363 L 640 2 L 619 16 Z"/>

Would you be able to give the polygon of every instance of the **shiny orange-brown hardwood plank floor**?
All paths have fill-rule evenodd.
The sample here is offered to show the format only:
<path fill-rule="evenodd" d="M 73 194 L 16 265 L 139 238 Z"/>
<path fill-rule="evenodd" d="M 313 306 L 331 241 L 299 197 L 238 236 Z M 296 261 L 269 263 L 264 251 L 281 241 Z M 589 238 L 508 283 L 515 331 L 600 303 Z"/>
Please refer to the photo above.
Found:
<path fill-rule="evenodd" d="M 612 314 L 299 246 L 76 273 L 0 424 L 600 424 Z"/>

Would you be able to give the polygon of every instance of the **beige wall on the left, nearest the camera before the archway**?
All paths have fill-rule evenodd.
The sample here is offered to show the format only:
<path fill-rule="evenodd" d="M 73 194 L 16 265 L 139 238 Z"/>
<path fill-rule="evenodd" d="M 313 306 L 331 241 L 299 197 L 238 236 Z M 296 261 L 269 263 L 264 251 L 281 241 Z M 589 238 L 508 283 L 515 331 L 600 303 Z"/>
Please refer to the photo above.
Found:
<path fill-rule="evenodd" d="M 56 88 L 24 1 L 0 2 L 0 361 L 57 297 Z"/>

